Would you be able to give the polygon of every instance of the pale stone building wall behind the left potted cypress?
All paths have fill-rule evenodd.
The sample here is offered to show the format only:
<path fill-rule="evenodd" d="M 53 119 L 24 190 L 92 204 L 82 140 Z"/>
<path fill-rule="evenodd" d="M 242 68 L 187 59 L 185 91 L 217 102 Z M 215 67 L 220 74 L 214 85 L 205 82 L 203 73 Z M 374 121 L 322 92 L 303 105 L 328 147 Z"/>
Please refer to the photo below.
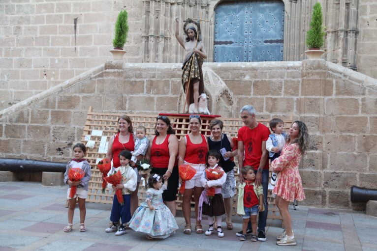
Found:
<path fill-rule="evenodd" d="M 140 0 L 1 0 L 0 110 L 112 58 L 109 50 L 121 9 L 127 9 L 130 27 L 125 61 L 141 62 L 141 4 Z"/>

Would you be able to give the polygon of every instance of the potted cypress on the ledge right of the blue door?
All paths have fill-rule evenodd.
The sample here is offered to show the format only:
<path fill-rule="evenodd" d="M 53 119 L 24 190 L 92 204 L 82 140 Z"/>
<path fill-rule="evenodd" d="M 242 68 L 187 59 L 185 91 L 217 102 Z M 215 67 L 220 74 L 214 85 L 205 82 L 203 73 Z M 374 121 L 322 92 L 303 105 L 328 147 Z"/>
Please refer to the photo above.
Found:
<path fill-rule="evenodd" d="M 320 58 L 324 53 L 320 48 L 324 44 L 324 27 L 322 26 L 322 7 L 319 2 L 313 6 L 312 21 L 310 22 L 310 29 L 307 33 L 306 44 L 309 50 L 305 51 L 308 59 Z"/>

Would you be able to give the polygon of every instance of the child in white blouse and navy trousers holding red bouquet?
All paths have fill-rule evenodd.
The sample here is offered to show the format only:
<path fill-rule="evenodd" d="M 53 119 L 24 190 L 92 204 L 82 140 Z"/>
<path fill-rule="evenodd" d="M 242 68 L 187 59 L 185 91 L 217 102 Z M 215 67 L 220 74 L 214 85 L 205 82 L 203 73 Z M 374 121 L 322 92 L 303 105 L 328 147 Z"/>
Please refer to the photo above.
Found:
<path fill-rule="evenodd" d="M 136 190 L 137 174 L 133 167 L 129 166 L 132 154 L 128 150 L 123 150 L 119 153 L 120 167 L 117 167 L 114 171 L 110 170 L 109 175 L 115 172 L 121 172 L 122 182 L 118 185 L 107 184 L 108 188 L 113 188 L 114 192 L 117 189 L 122 189 L 123 204 L 122 201 L 118 201 L 116 195 L 113 199 L 113 207 L 111 208 L 109 227 L 106 228 L 107 233 L 115 232 L 115 235 L 122 235 L 126 233 L 126 223 L 131 220 L 131 194 Z M 119 223 L 121 219 L 122 223 Z"/>

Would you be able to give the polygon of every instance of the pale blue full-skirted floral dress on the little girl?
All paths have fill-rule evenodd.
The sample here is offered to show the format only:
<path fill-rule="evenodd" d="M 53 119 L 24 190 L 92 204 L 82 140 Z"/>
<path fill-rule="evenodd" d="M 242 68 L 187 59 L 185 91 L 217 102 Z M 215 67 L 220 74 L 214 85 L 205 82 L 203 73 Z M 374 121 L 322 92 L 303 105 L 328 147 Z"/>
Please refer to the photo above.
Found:
<path fill-rule="evenodd" d="M 162 202 L 162 193 L 166 190 L 165 184 L 159 190 L 153 188 L 147 190 L 147 201 L 150 200 L 155 209 L 149 210 L 147 201 L 142 202 L 132 216 L 130 228 L 160 239 L 169 237 L 178 229 L 174 216 Z"/>

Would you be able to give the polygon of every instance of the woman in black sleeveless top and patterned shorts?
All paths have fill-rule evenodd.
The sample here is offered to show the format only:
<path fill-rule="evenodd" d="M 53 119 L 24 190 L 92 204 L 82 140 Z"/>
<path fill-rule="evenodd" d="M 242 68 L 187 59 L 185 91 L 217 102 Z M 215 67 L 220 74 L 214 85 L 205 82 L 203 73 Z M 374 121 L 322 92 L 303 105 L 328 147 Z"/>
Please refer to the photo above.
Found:
<path fill-rule="evenodd" d="M 236 193 L 234 180 L 234 167 L 236 164 L 234 164 L 232 157 L 237 156 L 237 149 L 232 151 L 234 147 L 233 140 L 229 135 L 222 133 L 222 126 L 222 121 L 219 119 L 211 121 L 211 136 L 208 137 L 208 147 L 209 150 L 219 150 L 221 153 L 219 166 L 226 172 L 226 181 L 222 185 L 221 194 L 225 204 L 226 227 L 232 230 L 232 197 Z"/>

